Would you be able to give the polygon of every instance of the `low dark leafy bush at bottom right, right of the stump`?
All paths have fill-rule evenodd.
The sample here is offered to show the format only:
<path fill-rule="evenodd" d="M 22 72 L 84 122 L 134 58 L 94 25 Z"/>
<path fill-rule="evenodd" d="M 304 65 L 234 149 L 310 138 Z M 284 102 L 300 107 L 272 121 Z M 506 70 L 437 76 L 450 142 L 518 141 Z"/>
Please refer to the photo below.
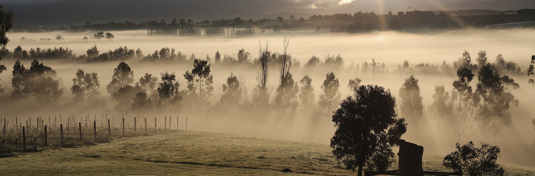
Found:
<path fill-rule="evenodd" d="M 460 146 L 456 143 L 457 151 L 444 157 L 443 165 L 447 168 L 461 172 L 462 175 L 503 175 L 505 170 L 496 163 L 500 156 L 500 148 L 491 146 L 484 142 L 481 148 L 473 147 L 473 142 Z"/>

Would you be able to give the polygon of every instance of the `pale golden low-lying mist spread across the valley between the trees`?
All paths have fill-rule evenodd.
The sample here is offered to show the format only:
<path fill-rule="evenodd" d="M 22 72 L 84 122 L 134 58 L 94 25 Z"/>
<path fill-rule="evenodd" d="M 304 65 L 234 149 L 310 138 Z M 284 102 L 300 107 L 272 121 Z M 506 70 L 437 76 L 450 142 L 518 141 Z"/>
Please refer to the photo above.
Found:
<path fill-rule="evenodd" d="M 528 84 L 529 77 L 526 76 L 526 69 L 529 66 L 530 56 L 535 54 L 531 50 L 535 47 L 533 43 L 533 29 L 510 29 L 510 30 L 464 30 L 451 31 L 448 33 L 432 34 L 407 34 L 395 32 L 378 32 L 369 34 L 317 34 L 317 35 L 288 35 L 290 39 L 287 52 L 292 58 L 300 62 L 300 66 L 292 66 L 289 72 L 293 80 L 299 87 L 302 86 L 300 80 L 308 75 L 314 88 L 315 106 L 322 94 L 322 84 L 326 79 L 326 74 L 333 72 L 339 80 L 339 91 L 341 99 L 351 95 L 351 89 L 348 87 L 349 79 L 360 78 L 360 85 L 374 84 L 384 86 L 392 91 L 396 96 L 399 108 L 399 89 L 404 79 L 414 75 L 418 79 L 420 93 L 423 103 L 423 126 L 422 131 L 414 131 L 413 124 L 408 125 L 409 132 L 403 138 L 408 141 L 424 146 L 426 154 L 444 155 L 454 150 L 455 142 L 466 143 L 469 140 L 475 142 L 486 142 L 497 145 L 502 149 L 501 162 L 535 166 L 532 157 L 535 156 L 532 148 L 535 141 L 535 131 L 531 120 L 535 118 L 535 89 Z M 251 60 L 258 58 L 258 42 L 264 43 L 270 41 L 269 50 L 271 52 L 284 52 L 282 35 L 257 35 L 254 37 L 243 38 L 223 38 L 223 37 L 154 37 L 147 36 L 146 31 L 111 31 L 115 36 L 112 40 L 83 40 L 83 36 L 91 34 L 62 34 L 65 37 L 63 41 L 56 41 L 56 34 L 52 33 L 8 33 L 11 42 L 7 49 L 12 50 L 20 45 L 22 49 L 41 47 L 68 47 L 77 55 L 86 54 L 86 51 L 93 45 L 96 45 L 101 53 L 106 50 L 113 50 L 119 46 L 128 46 L 131 49 L 141 49 L 144 55 L 151 54 L 162 47 L 173 47 L 175 50 L 186 54 L 189 58 L 194 53 L 196 58 L 204 59 L 208 54 L 214 59 L 214 54 L 219 51 L 222 55 L 234 55 L 237 57 L 238 50 L 245 50 L 251 53 Z M 292 34 L 292 33 L 288 33 Z M 19 41 L 19 38 L 35 39 L 35 42 Z M 134 37 L 134 38 L 133 38 Z M 52 38 L 51 41 L 41 42 L 39 38 Z M 408 61 L 410 67 L 424 62 L 440 67 L 445 61 L 449 66 L 458 58 L 462 57 L 464 50 L 471 54 L 472 63 L 475 63 L 477 53 L 485 50 L 488 62 L 493 63 L 496 55 L 502 54 L 505 60 L 518 63 L 521 73 L 513 74 L 500 72 L 501 75 L 509 75 L 519 84 L 519 89 L 511 91 L 518 99 L 518 107 L 511 106 L 509 111 L 512 114 L 512 123 L 509 127 L 502 130 L 502 133 L 496 137 L 478 141 L 479 139 L 462 139 L 457 141 L 448 138 L 444 131 L 439 131 L 436 118 L 429 112 L 429 107 L 433 103 L 433 93 L 436 85 L 444 85 L 446 90 L 452 90 L 452 82 L 457 80 L 455 71 L 449 74 L 430 74 L 425 72 L 403 72 L 399 71 L 398 66 L 402 66 L 404 61 Z M 305 63 L 317 55 L 322 61 L 324 55 L 340 54 L 344 61 L 342 68 L 329 67 L 304 67 Z M 33 58 L 32 58 L 33 59 Z M 39 58 L 35 58 L 39 59 Z M 363 69 L 350 69 L 354 65 L 362 67 L 363 62 L 372 62 L 372 59 L 379 63 L 385 63 L 386 70 L 383 71 L 366 71 Z M 26 68 L 30 67 L 32 60 L 21 60 Z M 125 118 L 139 116 L 144 117 L 179 117 L 180 124 L 188 117 L 188 130 L 192 131 L 209 131 L 234 133 L 241 135 L 253 135 L 258 137 L 277 138 L 284 140 L 297 140 L 305 142 L 315 142 L 328 144 L 333 135 L 334 127 L 330 122 L 330 115 L 318 115 L 314 108 L 305 109 L 301 105 L 299 93 L 297 94 L 297 107 L 291 113 L 285 111 L 282 113 L 278 108 L 265 108 L 259 110 L 250 105 L 248 106 L 231 106 L 218 107 L 221 94 L 224 94 L 223 86 L 227 84 L 227 77 L 231 73 L 240 79 L 240 84 L 247 88 L 247 96 L 251 100 L 251 93 L 257 82 L 257 75 L 260 65 L 225 65 L 222 63 L 213 63 L 210 67 L 213 75 L 213 92 L 208 99 L 208 104 L 194 102 L 195 105 L 186 105 L 189 101 L 182 101 L 181 108 L 173 110 L 151 109 L 139 112 L 136 109 L 116 109 L 115 101 L 106 90 L 106 85 L 112 81 L 114 68 L 117 68 L 121 61 L 105 62 L 86 62 L 72 60 L 39 60 L 44 65 L 56 70 L 60 88 L 63 89 L 63 95 L 58 101 L 58 105 L 36 105 L 32 101 L 13 102 L 10 100 L 9 91 L 11 89 L 11 71 L 13 70 L 14 59 L 3 59 L 0 65 L 5 65 L 7 71 L 0 74 L 2 87 L 7 88 L 4 94 L 0 94 L 1 117 L 11 119 L 18 116 L 26 118 L 29 116 L 54 116 L 62 114 L 64 117 L 74 115 L 75 117 L 91 117 L 96 115 L 108 114 L 108 117 L 122 116 Z M 134 82 L 137 82 L 144 74 L 149 73 L 152 76 L 160 78 L 161 73 L 169 71 L 175 73 L 176 79 L 180 83 L 180 90 L 187 90 L 187 80 L 183 76 L 186 71 L 192 71 L 193 63 L 178 63 L 168 61 L 138 61 L 125 60 L 134 73 Z M 73 102 L 71 94 L 72 79 L 75 77 L 78 69 L 83 69 L 85 73 L 97 73 L 100 81 L 100 90 L 102 98 L 106 102 L 106 108 L 87 107 L 78 105 Z M 398 70 L 398 71 L 396 71 Z M 268 90 L 270 93 L 270 105 L 277 94 L 277 87 L 280 84 L 280 64 L 270 63 L 268 76 Z M 477 71 L 471 86 L 476 87 Z M 474 88 L 475 89 L 475 88 Z M 181 92 L 184 93 L 184 92 Z M 149 96 L 150 97 L 150 96 Z M 157 98 L 157 96 L 156 96 Z M 157 103 L 158 100 L 152 100 Z M 254 102 L 251 102 L 254 103 Z M 206 106 L 198 108 L 198 106 Z M 332 111 L 333 109 L 331 109 Z M 332 115 L 332 114 L 331 114 Z M 322 120 L 314 119 L 321 116 Z M 403 117 L 400 115 L 400 117 Z M 97 118 L 98 119 L 98 118 Z M 116 118 L 116 123 L 119 118 Z"/>

